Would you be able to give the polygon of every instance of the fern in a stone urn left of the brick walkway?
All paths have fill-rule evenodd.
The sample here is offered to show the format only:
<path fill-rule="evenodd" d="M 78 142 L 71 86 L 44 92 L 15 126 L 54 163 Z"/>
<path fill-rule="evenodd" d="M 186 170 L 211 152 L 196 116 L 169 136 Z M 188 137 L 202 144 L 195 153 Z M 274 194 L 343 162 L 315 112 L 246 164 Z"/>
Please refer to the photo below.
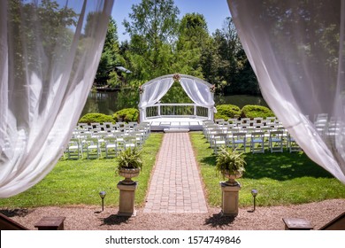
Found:
<path fill-rule="evenodd" d="M 139 175 L 142 169 L 142 151 L 138 147 L 128 148 L 119 153 L 117 173 L 123 177 L 123 184 L 134 184 L 132 177 Z"/>

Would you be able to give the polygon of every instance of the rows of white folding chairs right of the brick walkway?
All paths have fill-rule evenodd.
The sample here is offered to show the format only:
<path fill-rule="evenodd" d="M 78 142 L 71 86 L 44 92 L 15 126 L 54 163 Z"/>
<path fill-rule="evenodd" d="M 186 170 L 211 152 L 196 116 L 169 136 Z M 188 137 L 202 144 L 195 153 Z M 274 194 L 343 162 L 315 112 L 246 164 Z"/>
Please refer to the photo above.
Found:
<path fill-rule="evenodd" d="M 281 125 L 267 125 L 260 127 L 241 127 L 216 124 L 213 121 L 203 122 L 203 135 L 210 143 L 211 148 L 217 154 L 221 146 L 231 147 L 236 151 L 283 152 L 301 151 L 295 139 Z"/>

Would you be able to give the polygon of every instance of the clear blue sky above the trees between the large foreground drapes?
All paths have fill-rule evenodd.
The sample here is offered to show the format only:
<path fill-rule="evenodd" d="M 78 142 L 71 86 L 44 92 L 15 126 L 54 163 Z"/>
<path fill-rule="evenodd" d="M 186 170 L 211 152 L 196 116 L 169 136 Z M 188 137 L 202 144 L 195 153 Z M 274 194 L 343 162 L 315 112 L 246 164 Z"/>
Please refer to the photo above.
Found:
<path fill-rule="evenodd" d="M 128 14 L 132 12 L 132 5 L 141 2 L 141 0 L 115 0 L 111 16 L 115 19 L 118 26 L 119 42 L 129 40 L 129 35 L 123 35 L 126 30 L 122 22 L 125 18 L 130 20 Z M 230 16 L 226 0 L 174 0 L 174 3 L 180 10 L 180 19 L 186 13 L 197 12 L 203 14 L 207 21 L 210 35 L 217 28 L 220 29 L 226 17 Z"/>

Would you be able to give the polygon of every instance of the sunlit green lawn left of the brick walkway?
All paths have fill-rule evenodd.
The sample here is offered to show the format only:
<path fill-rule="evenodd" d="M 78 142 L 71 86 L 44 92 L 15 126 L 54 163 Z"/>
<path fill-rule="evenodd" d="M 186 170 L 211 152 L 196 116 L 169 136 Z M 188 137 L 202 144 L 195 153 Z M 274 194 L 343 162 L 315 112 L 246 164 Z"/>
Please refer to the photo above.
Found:
<path fill-rule="evenodd" d="M 142 172 L 138 181 L 135 204 L 142 205 L 148 190 L 149 177 L 162 142 L 162 134 L 152 133 L 143 147 Z M 0 199 L 0 207 L 36 207 L 44 205 L 100 205 L 99 192 L 106 191 L 104 205 L 119 205 L 115 175 L 115 159 L 60 159 L 42 182 L 12 198 Z"/>

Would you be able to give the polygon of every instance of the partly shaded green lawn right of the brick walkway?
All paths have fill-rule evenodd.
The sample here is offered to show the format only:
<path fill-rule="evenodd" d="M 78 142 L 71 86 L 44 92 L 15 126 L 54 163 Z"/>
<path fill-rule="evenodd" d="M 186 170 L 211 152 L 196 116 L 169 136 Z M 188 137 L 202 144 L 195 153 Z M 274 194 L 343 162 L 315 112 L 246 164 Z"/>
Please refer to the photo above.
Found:
<path fill-rule="evenodd" d="M 221 204 L 220 181 L 215 171 L 216 157 L 202 132 L 190 134 L 196 159 L 210 205 Z M 303 152 L 244 154 L 246 172 L 238 182 L 242 184 L 239 204 L 253 204 L 250 191 L 256 189 L 257 205 L 291 205 L 321 201 L 331 198 L 345 198 L 345 185 L 325 169 L 319 167 Z"/>

